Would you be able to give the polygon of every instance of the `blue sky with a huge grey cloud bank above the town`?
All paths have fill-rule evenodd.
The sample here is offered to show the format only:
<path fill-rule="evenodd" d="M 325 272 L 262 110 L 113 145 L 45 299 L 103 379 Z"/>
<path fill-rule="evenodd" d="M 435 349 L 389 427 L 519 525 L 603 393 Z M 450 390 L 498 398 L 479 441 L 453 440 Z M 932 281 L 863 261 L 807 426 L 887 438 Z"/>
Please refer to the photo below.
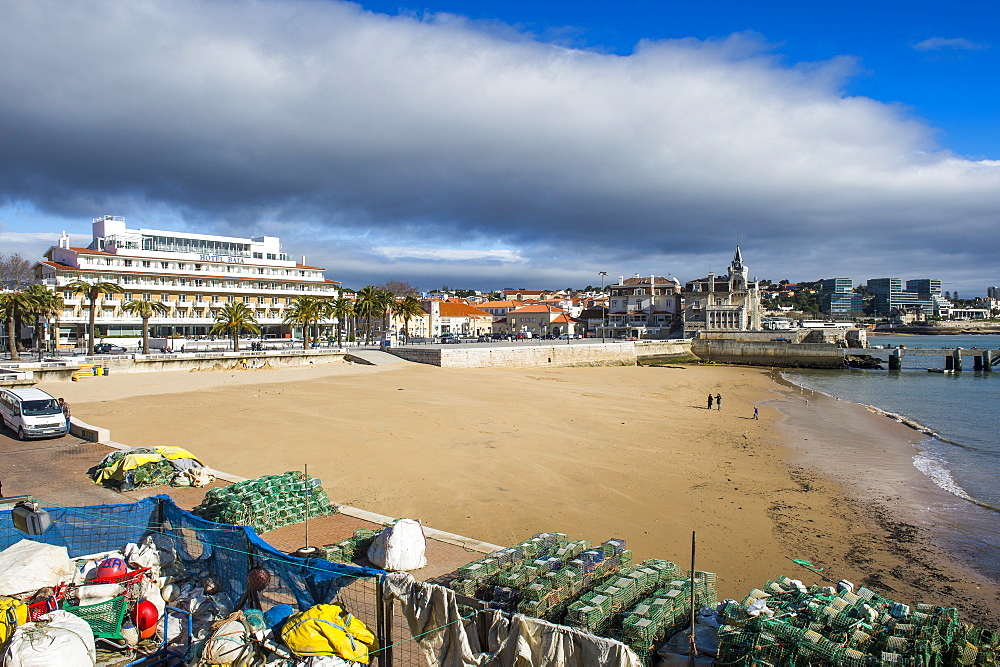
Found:
<path fill-rule="evenodd" d="M 349 287 L 1000 284 L 1000 4 L 0 7 L 0 252 L 272 235 Z"/>

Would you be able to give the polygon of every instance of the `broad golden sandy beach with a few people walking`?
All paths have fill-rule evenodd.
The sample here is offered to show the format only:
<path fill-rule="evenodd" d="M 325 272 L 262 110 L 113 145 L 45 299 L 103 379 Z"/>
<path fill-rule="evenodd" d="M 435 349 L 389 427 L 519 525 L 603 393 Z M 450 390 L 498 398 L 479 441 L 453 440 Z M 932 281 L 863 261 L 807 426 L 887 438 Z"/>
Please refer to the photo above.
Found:
<path fill-rule="evenodd" d="M 826 568 L 996 626 L 1000 585 L 934 545 L 954 498 L 910 464 L 920 434 L 767 369 L 442 369 L 347 363 L 45 383 L 129 445 L 181 445 L 253 477 L 309 465 L 330 497 L 497 544 L 621 537 L 740 599 Z M 709 393 L 723 396 L 709 411 Z M 753 408 L 760 419 L 751 419 Z"/>

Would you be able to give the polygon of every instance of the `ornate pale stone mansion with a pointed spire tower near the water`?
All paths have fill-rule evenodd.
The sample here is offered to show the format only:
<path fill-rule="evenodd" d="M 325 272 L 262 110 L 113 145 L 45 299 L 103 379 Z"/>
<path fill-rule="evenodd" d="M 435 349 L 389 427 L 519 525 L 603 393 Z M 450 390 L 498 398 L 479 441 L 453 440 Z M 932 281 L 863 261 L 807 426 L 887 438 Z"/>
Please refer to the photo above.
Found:
<path fill-rule="evenodd" d="M 700 333 L 760 331 L 760 285 L 750 280 L 739 246 L 725 276 L 707 277 L 685 284 L 684 337 Z"/>

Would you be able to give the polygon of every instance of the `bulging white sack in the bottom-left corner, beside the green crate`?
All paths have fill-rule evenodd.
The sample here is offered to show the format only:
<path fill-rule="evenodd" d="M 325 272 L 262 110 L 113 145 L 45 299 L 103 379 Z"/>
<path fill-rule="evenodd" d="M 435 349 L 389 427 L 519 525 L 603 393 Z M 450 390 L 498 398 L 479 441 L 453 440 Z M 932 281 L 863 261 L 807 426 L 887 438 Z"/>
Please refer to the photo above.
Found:
<path fill-rule="evenodd" d="M 85 620 L 56 610 L 48 623 L 25 623 L 14 631 L 6 667 L 91 667 L 97 660 L 94 632 Z"/>

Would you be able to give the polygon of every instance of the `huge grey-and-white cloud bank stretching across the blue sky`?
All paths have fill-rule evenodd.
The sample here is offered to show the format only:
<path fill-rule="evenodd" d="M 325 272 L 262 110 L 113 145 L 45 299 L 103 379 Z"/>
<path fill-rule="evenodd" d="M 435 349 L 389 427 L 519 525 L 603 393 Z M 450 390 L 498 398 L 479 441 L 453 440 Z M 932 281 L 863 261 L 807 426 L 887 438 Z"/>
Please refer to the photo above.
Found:
<path fill-rule="evenodd" d="M 609 56 L 337 2 L 43 0 L 4 18 L 0 195 L 54 214 L 285 228 L 339 266 L 427 276 L 701 275 L 737 233 L 783 273 L 818 256 L 860 273 L 852 238 L 901 266 L 992 261 L 975 238 L 1000 165 L 841 95 L 846 58 L 788 67 L 752 35 Z M 446 252 L 471 247 L 511 254 Z"/>

